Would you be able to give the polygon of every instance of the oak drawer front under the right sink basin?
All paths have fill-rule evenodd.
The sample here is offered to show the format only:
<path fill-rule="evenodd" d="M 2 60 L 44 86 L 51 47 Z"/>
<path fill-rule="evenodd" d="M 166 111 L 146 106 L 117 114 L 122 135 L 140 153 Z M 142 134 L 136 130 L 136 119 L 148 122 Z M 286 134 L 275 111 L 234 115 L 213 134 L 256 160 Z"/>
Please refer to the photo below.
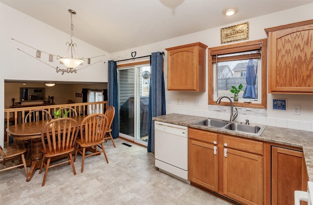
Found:
<path fill-rule="evenodd" d="M 261 142 L 223 135 L 223 144 L 225 143 L 229 148 L 263 155 L 263 143 Z"/>

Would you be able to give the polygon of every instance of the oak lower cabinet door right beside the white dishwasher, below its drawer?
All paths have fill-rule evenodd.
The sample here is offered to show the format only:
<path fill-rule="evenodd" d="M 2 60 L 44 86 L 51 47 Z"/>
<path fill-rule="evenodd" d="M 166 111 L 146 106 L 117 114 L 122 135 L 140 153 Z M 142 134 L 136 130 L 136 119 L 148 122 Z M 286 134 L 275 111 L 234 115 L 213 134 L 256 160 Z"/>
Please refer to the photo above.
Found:
<path fill-rule="evenodd" d="M 218 191 L 217 151 L 214 144 L 189 139 L 190 182 Z"/>

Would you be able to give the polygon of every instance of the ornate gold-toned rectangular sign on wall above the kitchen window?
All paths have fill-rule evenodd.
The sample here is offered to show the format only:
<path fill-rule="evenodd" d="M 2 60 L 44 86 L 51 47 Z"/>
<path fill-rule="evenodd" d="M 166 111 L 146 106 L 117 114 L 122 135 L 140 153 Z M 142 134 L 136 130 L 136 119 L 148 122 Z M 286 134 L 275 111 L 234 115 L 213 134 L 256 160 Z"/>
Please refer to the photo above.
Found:
<path fill-rule="evenodd" d="M 249 39 L 249 22 L 221 28 L 221 43 Z"/>

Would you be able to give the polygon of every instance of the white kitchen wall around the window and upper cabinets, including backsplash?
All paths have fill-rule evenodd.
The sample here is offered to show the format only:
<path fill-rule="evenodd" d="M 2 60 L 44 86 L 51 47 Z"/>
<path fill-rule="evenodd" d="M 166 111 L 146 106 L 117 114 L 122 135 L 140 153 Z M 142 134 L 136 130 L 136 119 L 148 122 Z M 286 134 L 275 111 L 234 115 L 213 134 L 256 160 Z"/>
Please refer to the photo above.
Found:
<path fill-rule="evenodd" d="M 119 51 L 111 54 L 112 59 L 127 59 L 131 58 L 130 54 L 133 51 L 137 52 L 137 56 L 150 55 L 152 52 L 164 51 L 164 68 L 165 68 L 165 87 L 167 87 L 167 52 L 165 48 L 193 43 L 202 42 L 209 47 L 215 47 L 221 45 L 220 29 L 236 25 L 239 23 L 249 22 L 249 40 L 265 39 L 267 35 L 264 31 L 265 28 L 274 27 L 278 25 L 289 24 L 298 21 L 306 21 L 313 19 L 313 3 L 307 4 L 300 7 L 295 7 L 285 11 L 272 13 L 269 15 L 247 19 L 237 23 L 216 27 L 213 29 L 204 30 L 201 32 L 180 36 L 178 38 L 169 39 L 166 41 L 160 41 L 153 44 L 140 46 L 124 51 Z M 231 18 L 231 17 L 230 17 Z M 210 22 L 208 22 L 210 23 Z M 243 42 L 235 41 L 234 43 Z M 224 44 L 223 44 L 224 45 Z M 206 57 L 206 64 L 208 60 Z M 207 73 L 207 65 L 206 65 Z M 206 82 L 207 78 L 206 78 Z M 229 119 L 229 107 L 223 108 L 223 106 L 212 106 L 208 105 L 208 91 L 206 92 L 181 92 L 181 91 L 166 91 L 166 112 L 169 113 L 182 113 L 190 114 L 203 117 L 215 117 L 224 120 Z M 177 99 L 183 99 L 183 104 L 177 104 Z M 287 111 L 276 111 L 272 110 L 272 99 L 287 99 Z M 194 106 L 194 100 L 200 102 L 200 106 Z M 170 101 L 170 103 L 169 103 Z M 293 105 L 301 106 L 301 115 L 293 115 Z M 221 108 L 222 107 L 222 108 Z M 222 110 L 216 112 L 215 110 Z M 224 111 L 226 110 L 226 111 Z M 295 129 L 310 130 L 313 131 L 313 95 L 286 95 L 286 94 L 268 94 L 268 109 L 266 111 L 259 109 L 248 109 L 252 110 L 251 115 L 246 114 L 246 111 L 239 110 L 238 121 L 245 121 L 249 119 L 251 123 L 261 123 L 279 127 L 290 127 Z M 262 115 L 258 115 L 262 113 Z M 265 115 L 264 115 L 265 113 Z"/>

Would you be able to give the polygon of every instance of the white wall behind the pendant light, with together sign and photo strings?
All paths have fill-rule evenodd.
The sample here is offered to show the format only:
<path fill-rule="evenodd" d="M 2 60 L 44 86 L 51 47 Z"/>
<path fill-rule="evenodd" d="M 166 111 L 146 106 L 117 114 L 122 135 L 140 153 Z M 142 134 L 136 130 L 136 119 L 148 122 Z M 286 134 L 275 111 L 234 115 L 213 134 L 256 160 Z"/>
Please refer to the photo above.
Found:
<path fill-rule="evenodd" d="M 68 25 L 70 29 L 70 25 Z M 36 50 L 23 45 L 11 38 L 34 47 L 38 50 L 53 54 L 65 55 L 66 42 L 70 41 L 70 35 L 57 30 L 42 21 L 38 21 L 11 7 L 0 3 L 0 129 L 4 124 L 4 80 L 28 80 L 28 81 L 56 81 L 56 82 L 108 82 L 108 60 L 110 54 L 96 48 L 84 41 L 73 38 L 77 44 L 75 47 L 78 58 L 89 58 L 91 63 L 98 62 L 89 67 L 77 71 L 76 74 L 57 73 L 53 67 L 60 66 L 56 58 L 53 59 L 53 67 L 23 53 L 35 56 Z M 19 51 L 17 48 L 21 49 Z M 48 55 L 42 53 L 41 61 L 48 62 Z M 106 62 L 106 63 L 104 63 Z M 85 66 L 87 63 L 84 63 Z M 0 145 L 3 146 L 3 132 L 0 132 Z"/>

